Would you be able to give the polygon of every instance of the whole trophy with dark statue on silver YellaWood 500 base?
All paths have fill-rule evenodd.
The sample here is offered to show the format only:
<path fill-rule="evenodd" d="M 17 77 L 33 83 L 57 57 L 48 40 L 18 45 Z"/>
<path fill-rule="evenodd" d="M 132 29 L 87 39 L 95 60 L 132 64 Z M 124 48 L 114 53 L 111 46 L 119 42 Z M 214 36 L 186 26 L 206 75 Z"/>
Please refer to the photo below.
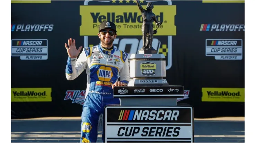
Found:
<path fill-rule="evenodd" d="M 142 8 L 139 1 L 136 1 L 141 11 L 143 23 L 141 31 L 143 32 L 143 46 L 139 50 L 139 54 L 131 54 L 130 56 L 130 77 L 132 78 L 128 86 L 168 86 L 166 79 L 166 63 L 163 54 L 157 54 L 152 47 L 153 35 L 157 33 L 157 29 L 153 30 L 153 22 L 159 27 L 162 22 L 158 21 L 152 12 L 154 5 L 152 2 L 147 3 L 145 9 Z M 158 28 L 157 27 L 157 28 Z"/>

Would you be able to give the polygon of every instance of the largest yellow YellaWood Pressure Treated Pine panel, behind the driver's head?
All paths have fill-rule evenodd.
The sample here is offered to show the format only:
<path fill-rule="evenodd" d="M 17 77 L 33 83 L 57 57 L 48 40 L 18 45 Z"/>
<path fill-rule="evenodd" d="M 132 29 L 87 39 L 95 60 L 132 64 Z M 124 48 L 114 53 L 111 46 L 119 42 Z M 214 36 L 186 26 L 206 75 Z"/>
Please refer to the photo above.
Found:
<path fill-rule="evenodd" d="M 118 35 L 121 36 L 141 36 L 142 16 L 136 5 L 80 5 L 80 15 L 82 24 L 80 35 L 95 36 L 99 24 L 109 20 L 115 22 Z M 158 21 L 163 24 L 159 26 L 157 35 L 176 35 L 174 19 L 176 15 L 176 5 L 155 5 L 154 14 Z M 154 24 L 154 29 L 157 26 Z"/>

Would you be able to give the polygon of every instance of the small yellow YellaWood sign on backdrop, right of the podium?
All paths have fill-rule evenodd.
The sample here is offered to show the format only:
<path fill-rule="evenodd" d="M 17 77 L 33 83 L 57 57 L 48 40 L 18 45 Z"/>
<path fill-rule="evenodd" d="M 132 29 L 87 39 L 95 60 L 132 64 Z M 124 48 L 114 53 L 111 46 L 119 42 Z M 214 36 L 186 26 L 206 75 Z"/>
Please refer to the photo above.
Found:
<path fill-rule="evenodd" d="M 202 88 L 202 101 L 245 102 L 244 88 Z"/>

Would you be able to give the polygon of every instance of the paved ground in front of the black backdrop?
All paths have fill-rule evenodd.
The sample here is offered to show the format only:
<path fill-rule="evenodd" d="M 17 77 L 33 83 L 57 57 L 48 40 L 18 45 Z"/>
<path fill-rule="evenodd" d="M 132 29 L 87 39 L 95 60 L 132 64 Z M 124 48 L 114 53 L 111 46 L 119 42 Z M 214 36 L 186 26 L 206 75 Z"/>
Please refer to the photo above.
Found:
<path fill-rule="evenodd" d="M 11 142 L 77 143 L 80 125 L 80 117 L 13 119 Z M 97 142 L 102 142 L 102 130 L 98 132 Z M 194 119 L 194 142 L 245 142 L 244 117 Z"/>

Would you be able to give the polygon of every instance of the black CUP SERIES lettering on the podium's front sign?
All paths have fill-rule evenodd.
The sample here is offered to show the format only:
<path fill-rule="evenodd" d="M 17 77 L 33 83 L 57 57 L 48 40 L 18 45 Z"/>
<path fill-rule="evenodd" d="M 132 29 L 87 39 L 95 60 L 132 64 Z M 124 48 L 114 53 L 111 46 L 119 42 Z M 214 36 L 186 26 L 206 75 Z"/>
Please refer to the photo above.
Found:
<path fill-rule="evenodd" d="M 118 136 L 157 136 L 157 137 L 160 137 L 160 136 L 178 136 L 180 134 L 180 130 L 181 128 L 180 127 L 171 127 L 171 126 L 168 126 L 168 127 L 161 127 L 161 126 L 150 126 L 150 127 L 142 127 L 140 126 L 122 126 L 118 129 L 118 133 L 117 135 Z M 138 134 L 138 135 L 137 135 Z"/>

